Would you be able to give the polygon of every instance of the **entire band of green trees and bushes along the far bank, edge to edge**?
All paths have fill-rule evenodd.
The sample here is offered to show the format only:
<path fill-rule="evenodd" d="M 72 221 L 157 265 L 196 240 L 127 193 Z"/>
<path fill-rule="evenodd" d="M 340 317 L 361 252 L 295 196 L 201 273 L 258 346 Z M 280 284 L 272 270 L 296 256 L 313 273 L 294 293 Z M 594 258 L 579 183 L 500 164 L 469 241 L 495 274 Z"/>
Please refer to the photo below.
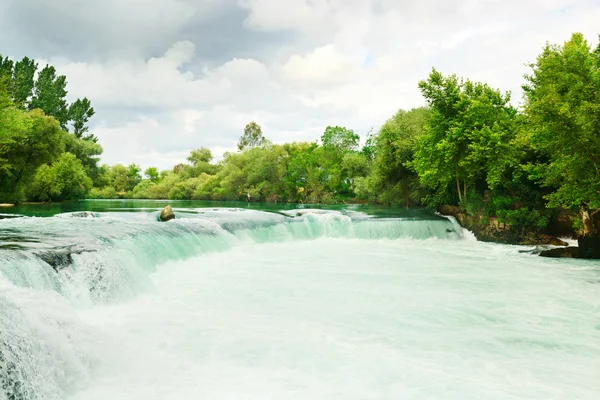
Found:
<path fill-rule="evenodd" d="M 53 67 L 0 57 L 0 201 L 446 204 L 520 233 L 578 210 L 582 234 L 600 232 L 600 47 L 574 34 L 530 67 L 521 108 L 510 93 L 433 69 L 418 84 L 426 107 L 398 111 L 362 147 L 341 126 L 319 141 L 273 144 L 250 122 L 239 151 L 219 162 L 199 148 L 170 170 L 142 171 L 97 165 L 94 109 L 87 98 L 67 103 Z"/>

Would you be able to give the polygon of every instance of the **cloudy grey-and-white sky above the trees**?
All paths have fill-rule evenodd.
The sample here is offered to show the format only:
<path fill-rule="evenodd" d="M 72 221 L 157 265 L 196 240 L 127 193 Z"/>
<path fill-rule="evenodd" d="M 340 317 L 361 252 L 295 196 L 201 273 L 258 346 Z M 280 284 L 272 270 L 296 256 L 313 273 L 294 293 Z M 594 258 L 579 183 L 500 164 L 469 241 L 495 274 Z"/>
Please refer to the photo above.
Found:
<path fill-rule="evenodd" d="M 88 97 L 102 162 L 171 168 L 328 125 L 365 137 L 425 104 L 432 67 L 521 101 L 527 63 L 582 32 L 600 0 L 1 0 L 0 53 L 50 63 Z"/>

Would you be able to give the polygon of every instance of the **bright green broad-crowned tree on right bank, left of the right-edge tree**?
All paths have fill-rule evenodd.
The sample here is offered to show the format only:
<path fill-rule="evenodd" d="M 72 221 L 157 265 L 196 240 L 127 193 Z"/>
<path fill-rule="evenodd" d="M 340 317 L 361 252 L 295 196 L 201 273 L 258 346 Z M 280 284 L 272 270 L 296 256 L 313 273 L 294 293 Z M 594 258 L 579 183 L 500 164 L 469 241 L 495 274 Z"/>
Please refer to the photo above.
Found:
<path fill-rule="evenodd" d="M 510 93 L 435 69 L 419 88 L 431 110 L 412 163 L 421 182 L 441 191 L 454 182 L 460 203 L 476 184 L 497 185 L 516 135 Z"/>

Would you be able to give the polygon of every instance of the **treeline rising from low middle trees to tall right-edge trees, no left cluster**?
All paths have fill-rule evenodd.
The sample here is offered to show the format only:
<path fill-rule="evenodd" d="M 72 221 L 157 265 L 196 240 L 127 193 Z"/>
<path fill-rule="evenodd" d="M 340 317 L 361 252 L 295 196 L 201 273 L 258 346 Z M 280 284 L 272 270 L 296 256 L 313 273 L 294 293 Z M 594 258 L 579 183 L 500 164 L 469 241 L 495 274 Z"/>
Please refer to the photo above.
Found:
<path fill-rule="evenodd" d="M 515 232 L 542 231 L 577 210 L 582 234 L 600 232 L 600 48 L 581 34 L 548 44 L 530 64 L 524 98 L 433 70 L 424 108 L 400 110 L 362 148 L 328 127 L 314 143 L 271 144 L 249 124 L 240 152 L 211 163 L 207 149 L 172 170 L 103 167 L 94 197 L 369 201 L 458 205 Z"/>

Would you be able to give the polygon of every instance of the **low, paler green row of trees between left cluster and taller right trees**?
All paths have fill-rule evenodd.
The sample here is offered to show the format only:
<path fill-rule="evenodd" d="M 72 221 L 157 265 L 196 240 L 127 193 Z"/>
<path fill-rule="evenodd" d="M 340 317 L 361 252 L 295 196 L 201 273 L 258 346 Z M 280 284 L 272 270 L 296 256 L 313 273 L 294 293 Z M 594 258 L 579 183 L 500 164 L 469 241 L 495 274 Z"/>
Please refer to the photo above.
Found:
<path fill-rule="evenodd" d="M 272 144 L 252 122 L 240 138 L 238 153 L 211 163 L 210 150 L 191 152 L 172 170 L 144 171 L 136 165 L 101 167 L 95 198 L 251 200 L 335 203 L 355 196 L 373 154 L 359 149 L 352 130 L 328 127 L 321 143 Z"/>

